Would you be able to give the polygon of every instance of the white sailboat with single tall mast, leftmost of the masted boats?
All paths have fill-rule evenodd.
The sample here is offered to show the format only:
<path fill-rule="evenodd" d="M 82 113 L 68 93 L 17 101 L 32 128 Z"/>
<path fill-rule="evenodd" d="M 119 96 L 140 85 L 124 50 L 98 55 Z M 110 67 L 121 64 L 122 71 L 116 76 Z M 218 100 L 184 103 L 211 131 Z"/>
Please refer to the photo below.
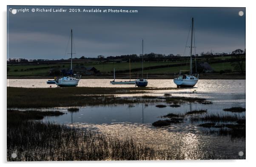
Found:
<path fill-rule="evenodd" d="M 70 70 L 70 77 L 62 77 L 62 78 L 57 78 L 55 77 L 55 84 L 60 87 L 74 87 L 78 85 L 78 82 L 80 81 L 81 75 L 77 76 L 74 74 L 76 77 L 72 77 L 73 71 L 72 71 L 72 40 L 73 40 L 73 31 L 71 29 L 71 70 Z"/>

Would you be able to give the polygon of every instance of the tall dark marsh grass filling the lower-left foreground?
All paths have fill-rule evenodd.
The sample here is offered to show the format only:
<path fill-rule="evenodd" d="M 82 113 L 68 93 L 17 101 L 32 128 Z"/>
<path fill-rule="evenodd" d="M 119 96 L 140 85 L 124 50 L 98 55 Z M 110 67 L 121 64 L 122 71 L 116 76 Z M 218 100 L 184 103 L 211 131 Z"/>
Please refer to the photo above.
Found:
<path fill-rule="evenodd" d="M 212 153 L 194 151 L 185 155 L 153 149 L 132 138 L 123 140 L 82 128 L 32 121 L 38 119 L 37 114 L 29 119 L 23 114 L 31 112 L 7 112 L 7 161 L 216 159 Z M 17 157 L 12 158 L 12 153 Z"/>

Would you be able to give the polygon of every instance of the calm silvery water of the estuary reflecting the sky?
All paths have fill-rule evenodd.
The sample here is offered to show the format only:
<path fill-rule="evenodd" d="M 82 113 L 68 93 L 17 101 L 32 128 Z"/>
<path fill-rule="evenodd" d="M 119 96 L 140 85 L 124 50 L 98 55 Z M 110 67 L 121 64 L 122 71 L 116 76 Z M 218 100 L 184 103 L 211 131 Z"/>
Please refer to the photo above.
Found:
<path fill-rule="evenodd" d="M 79 86 L 87 87 L 134 87 L 133 85 L 111 85 L 112 79 L 82 79 Z M 47 88 L 47 79 L 9 79 L 8 85 L 13 87 Z M 32 86 L 32 84 L 34 86 Z M 55 86 L 55 85 L 54 85 Z M 172 79 L 149 79 L 148 87 L 175 88 Z M 196 91 L 194 91 L 196 90 Z M 194 91 L 194 93 L 193 93 Z M 245 159 L 239 156 L 239 151 L 245 153 L 245 139 L 231 140 L 228 136 L 206 134 L 207 129 L 198 126 L 198 123 L 185 121 L 172 124 L 165 128 L 156 128 L 151 125 L 160 120 L 162 115 L 168 113 L 185 113 L 190 110 L 207 109 L 208 113 L 232 115 L 222 109 L 229 107 L 245 107 L 245 80 L 210 80 L 200 79 L 195 88 L 154 90 L 147 94 L 163 96 L 170 93 L 172 96 L 202 97 L 213 104 L 185 103 L 181 107 L 157 108 L 154 104 L 134 104 L 134 106 L 97 106 L 80 107 L 79 112 L 68 112 L 67 108 L 57 108 L 66 114 L 61 116 L 46 117 L 43 121 L 64 123 L 71 126 L 94 129 L 107 135 L 132 137 L 138 143 L 145 143 L 154 148 L 170 148 L 181 151 L 185 155 L 205 153 L 209 151 L 219 158 Z M 141 96 L 120 95 L 120 96 Z M 145 94 L 143 94 L 145 95 Z M 159 103 L 164 104 L 164 103 Z M 53 109 L 48 109 L 53 110 Z M 244 116 L 244 113 L 237 114 Z"/>

